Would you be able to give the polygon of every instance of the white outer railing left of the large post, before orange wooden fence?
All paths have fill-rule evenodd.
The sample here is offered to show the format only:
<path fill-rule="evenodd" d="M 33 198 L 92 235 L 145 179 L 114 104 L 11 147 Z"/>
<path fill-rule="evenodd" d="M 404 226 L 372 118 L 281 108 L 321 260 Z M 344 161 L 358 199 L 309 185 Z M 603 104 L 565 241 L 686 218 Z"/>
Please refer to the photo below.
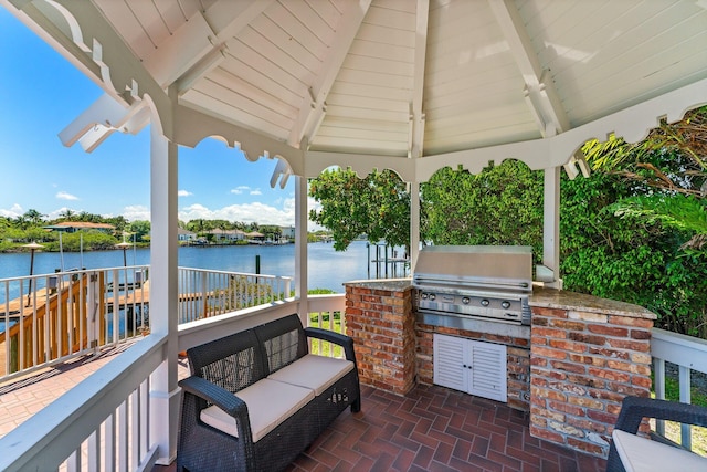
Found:
<path fill-rule="evenodd" d="M 146 277 L 130 266 L 0 280 L 0 381 L 139 336 Z"/>

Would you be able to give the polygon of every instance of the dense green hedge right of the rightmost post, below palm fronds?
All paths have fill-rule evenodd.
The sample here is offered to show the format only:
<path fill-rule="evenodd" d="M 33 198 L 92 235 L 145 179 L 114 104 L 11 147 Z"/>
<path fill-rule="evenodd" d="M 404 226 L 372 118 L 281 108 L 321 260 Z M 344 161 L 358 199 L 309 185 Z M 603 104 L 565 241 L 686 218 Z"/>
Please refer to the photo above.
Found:
<path fill-rule="evenodd" d="M 564 287 L 635 303 L 658 315 L 656 326 L 705 336 L 707 261 L 701 251 L 682 250 L 690 240 L 689 227 L 672 224 L 666 216 L 616 214 L 620 209 L 635 211 L 631 217 L 646 214 L 639 207 L 631 210 L 632 206 L 663 200 L 668 209 L 676 200 L 658 198 L 647 186 L 627 185 L 624 176 L 612 172 L 561 183 Z M 694 199 L 677 197 L 683 198 Z"/>

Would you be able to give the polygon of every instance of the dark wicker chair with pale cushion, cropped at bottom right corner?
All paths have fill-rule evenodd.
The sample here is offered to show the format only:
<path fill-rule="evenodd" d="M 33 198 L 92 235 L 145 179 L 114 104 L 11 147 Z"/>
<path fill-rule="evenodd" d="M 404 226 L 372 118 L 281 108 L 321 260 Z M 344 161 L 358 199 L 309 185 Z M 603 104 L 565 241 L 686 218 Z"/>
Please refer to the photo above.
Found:
<path fill-rule="evenodd" d="M 608 472 L 707 471 L 707 458 L 694 454 L 668 439 L 637 436 L 643 418 L 707 427 L 707 408 L 676 401 L 629 396 L 612 433 Z"/>

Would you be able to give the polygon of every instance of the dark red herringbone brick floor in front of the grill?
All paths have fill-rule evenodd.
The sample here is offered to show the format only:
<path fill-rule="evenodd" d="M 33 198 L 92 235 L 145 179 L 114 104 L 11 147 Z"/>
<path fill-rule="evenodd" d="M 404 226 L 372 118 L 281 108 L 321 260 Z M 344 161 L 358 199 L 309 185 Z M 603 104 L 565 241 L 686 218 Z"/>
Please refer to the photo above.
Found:
<path fill-rule="evenodd" d="M 363 387 L 288 471 L 603 471 L 605 461 L 530 437 L 527 415 L 442 387 Z"/>

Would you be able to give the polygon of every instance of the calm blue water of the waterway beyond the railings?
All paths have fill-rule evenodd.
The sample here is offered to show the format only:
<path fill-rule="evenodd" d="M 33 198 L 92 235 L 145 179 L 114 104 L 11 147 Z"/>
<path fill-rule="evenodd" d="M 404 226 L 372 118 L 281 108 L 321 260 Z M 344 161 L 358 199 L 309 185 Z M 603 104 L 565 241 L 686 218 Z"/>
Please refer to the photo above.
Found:
<path fill-rule="evenodd" d="M 365 241 L 354 241 L 344 252 L 336 252 L 330 243 L 310 243 L 307 251 L 309 289 L 329 289 L 340 293 L 344 292 L 341 285 L 344 282 L 369 279 L 369 250 Z M 179 266 L 255 273 L 256 255 L 261 256 L 262 274 L 295 276 L 294 244 L 184 247 L 179 248 Z M 370 259 L 374 259 L 374 256 L 376 248 L 371 247 Z M 146 265 L 150 263 L 150 252 L 148 249 L 129 249 L 126 252 L 126 259 L 128 265 Z M 83 256 L 73 252 L 63 255 L 64 270 L 75 268 L 104 269 L 122 265 L 123 251 L 120 250 L 84 252 Z M 54 273 L 60 268 L 62 268 L 60 253 L 36 252 L 34 254 L 34 274 Z M 400 265 L 398 268 L 400 271 Z M 25 276 L 29 275 L 29 253 L 0 253 L 0 279 Z M 376 265 L 373 263 L 370 264 L 370 277 L 374 279 Z M 392 276 L 390 270 L 389 275 Z"/>

